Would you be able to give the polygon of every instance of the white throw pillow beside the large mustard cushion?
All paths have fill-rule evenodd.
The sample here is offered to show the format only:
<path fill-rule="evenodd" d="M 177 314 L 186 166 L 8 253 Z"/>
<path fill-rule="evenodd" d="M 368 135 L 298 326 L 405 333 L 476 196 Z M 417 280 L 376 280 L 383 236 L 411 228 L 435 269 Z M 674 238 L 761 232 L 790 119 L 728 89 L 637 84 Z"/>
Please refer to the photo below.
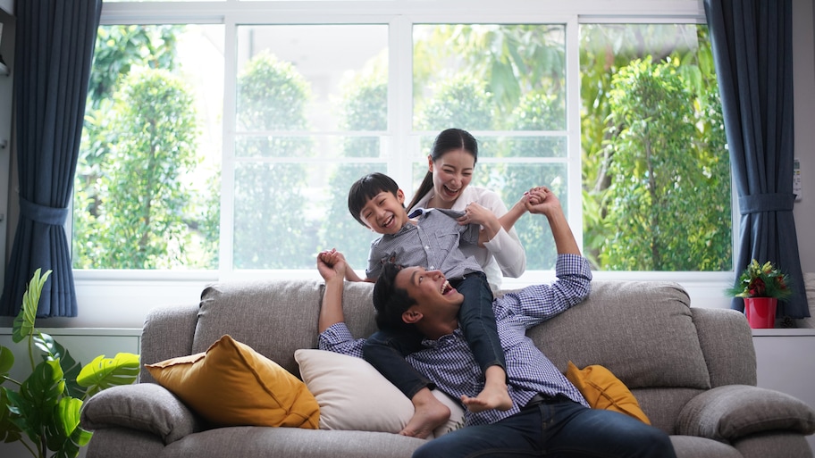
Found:
<path fill-rule="evenodd" d="M 294 359 L 308 390 L 320 405 L 320 429 L 352 429 L 399 433 L 413 416 L 413 404 L 374 366 L 347 354 L 298 350 Z M 434 389 L 450 407 L 450 420 L 433 431 L 439 437 L 464 423 L 458 401 Z"/>

